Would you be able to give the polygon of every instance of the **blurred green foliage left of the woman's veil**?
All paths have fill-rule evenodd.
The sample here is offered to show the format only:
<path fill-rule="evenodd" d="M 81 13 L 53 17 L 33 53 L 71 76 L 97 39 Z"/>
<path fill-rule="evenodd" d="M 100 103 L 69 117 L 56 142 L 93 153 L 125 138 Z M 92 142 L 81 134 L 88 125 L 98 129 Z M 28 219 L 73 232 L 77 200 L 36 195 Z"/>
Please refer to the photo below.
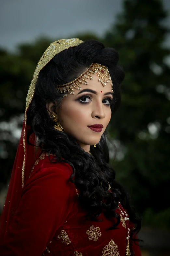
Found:
<path fill-rule="evenodd" d="M 0 189 L 10 179 L 29 84 L 40 57 L 51 42 L 39 38 L 34 44 L 19 45 L 16 54 L 0 50 Z"/>

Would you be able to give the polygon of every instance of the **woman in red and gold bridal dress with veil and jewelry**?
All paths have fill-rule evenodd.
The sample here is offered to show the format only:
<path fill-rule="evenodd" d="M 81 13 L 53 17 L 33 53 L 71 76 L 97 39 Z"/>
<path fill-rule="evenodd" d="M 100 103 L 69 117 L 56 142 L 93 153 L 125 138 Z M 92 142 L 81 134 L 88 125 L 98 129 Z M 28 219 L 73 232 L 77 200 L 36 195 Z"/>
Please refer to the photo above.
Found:
<path fill-rule="evenodd" d="M 141 255 L 141 221 L 109 165 L 118 54 L 96 40 L 51 43 L 34 73 L 7 199 L 1 255 Z"/>

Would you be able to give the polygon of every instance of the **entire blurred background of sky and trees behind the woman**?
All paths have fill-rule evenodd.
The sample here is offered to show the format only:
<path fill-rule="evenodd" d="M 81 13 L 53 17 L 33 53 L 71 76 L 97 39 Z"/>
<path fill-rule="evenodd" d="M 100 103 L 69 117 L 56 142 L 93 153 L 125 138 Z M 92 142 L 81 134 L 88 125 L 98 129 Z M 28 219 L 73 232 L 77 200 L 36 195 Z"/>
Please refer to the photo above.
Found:
<path fill-rule="evenodd" d="M 57 39 L 115 48 L 126 77 L 110 163 L 142 216 L 142 256 L 170 255 L 170 1 L 0 1 L 0 212 L 35 67 Z"/>

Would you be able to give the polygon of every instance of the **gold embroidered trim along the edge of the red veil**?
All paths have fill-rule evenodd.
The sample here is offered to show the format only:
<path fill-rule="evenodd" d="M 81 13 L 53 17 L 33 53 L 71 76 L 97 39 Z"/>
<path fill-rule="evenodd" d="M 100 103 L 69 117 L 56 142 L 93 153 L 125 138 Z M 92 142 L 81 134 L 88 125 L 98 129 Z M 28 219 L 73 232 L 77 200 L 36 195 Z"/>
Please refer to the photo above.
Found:
<path fill-rule="evenodd" d="M 26 112 L 34 96 L 35 85 L 37 82 L 39 72 L 56 54 L 58 54 L 59 52 L 65 49 L 68 49 L 69 47 L 77 46 L 80 43 L 83 43 L 83 41 L 78 38 L 60 39 L 58 41 L 55 41 L 51 43 L 50 46 L 46 49 L 46 51 L 44 52 L 43 56 L 40 58 L 37 64 L 37 67 L 35 69 L 34 76 L 31 81 L 28 94 L 26 97 L 26 109 L 25 109 L 25 116 L 24 116 L 25 126 L 24 126 L 24 135 L 23 135 L 24 159 L 23 159 L 23 165 L 22 165 L 22 187 L 24 186 L 25 153 L 26 153 L 25 151 L 25 130 L 26 130 L 26 120 L 27 120 Z"/>

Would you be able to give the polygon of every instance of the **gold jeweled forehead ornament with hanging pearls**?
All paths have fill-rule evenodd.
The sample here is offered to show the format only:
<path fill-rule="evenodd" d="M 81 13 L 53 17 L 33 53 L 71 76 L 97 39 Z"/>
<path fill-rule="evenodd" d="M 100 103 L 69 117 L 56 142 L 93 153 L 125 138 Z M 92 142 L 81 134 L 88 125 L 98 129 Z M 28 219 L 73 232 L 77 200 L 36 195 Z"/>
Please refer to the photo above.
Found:
<path fill-rule="evenodd" d="M 102 83 L 103 87 L 106 86 L 107 83 L 111 83 L 111 91 L 113 93 L 113 83 L 108 71 L 108 68 L 98 64 L 98 63 L 92 63 L 90 67 L 83 72 L 79 77 L 77 77 L 75 80 L 72 82 L 58 85 L 57 90 L 60 91 L 60 93 L 63 93 L 63 97 L 67 96 L 66 91 L 70 92 L 70 94 L 74 94 L 74 89 L 81 90 L 81 84 L 89 84 L 87 82 L 87 79 L 93 80 L 92 74 L 97 74 L 98 81 Z"/>

